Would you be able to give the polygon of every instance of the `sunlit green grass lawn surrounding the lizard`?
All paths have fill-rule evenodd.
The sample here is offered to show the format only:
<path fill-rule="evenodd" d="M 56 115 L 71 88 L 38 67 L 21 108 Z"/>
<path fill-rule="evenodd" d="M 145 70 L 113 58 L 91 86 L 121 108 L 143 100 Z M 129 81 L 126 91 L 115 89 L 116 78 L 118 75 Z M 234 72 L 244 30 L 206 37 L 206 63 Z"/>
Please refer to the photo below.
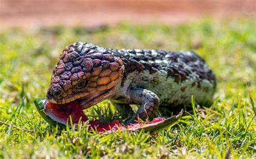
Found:
<path fill-rule="evenodd" d="M 255 19 L 250 18 L 204 19 L 179 26 L 123 23 L 1 30 L 0 121 L 18 128 L 0 123 L 0 158 L 255 157 L 255 37 Z M 195 50 L 218 78 L 214 104 L 205 109 L 193 105 L 191 114 L 157 135 L 104 135 L 87 132 L 86 125 L 77 131 L 52 127 L 40 117 L 33 100 L 45 97 L 59 54 L 76 41 L 112 48 Z M 107 101 L 85 113 L 105 122 L 122 118 Z"/>

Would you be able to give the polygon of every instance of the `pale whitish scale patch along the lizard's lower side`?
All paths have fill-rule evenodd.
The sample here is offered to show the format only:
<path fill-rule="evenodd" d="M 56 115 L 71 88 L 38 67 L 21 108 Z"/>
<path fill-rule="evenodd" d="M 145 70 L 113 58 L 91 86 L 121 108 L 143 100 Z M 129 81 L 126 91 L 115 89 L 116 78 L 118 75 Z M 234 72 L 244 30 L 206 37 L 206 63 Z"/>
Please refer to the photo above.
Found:
<path fill-rule="evenodd" d="M 196 81 L 196 78 L 191 77 L 181 83 L 176 83 L 171 76 L 167 77 L 165 70 L 157 71 L 154 74 L 150 74 L 149 70 L 134 71 L 126 77 L 123 87 L 119 89 L 123 91 L 119 93 L 126 94 L 125 92 L 129 86 L 150 90 L 156 93 L 160 99 L 160 105 L 164 106 L 190 104 L 191 95 L 196 97 L 197 103 L 211 101 L 214 93 L 213 84 L 204 79 L 201 88 L 198 88 L 197 85 L 192 86 L 194 81 Z M 182 91 L 184 88 L 185 90 Z M 206 93 L 203 88 L 207 88 L 209 91 Z"/>

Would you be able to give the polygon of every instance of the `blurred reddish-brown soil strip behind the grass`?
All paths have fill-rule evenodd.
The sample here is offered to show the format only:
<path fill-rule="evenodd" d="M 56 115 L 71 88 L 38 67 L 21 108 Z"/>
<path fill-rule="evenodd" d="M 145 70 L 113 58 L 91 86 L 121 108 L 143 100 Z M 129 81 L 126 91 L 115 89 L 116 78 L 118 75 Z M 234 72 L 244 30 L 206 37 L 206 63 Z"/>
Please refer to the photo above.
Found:
<path fill-rule="evenodd" d="M 255 17 L 255 0 L 0 0 L 0 27 L 185 23 L 205 16 Z"/>

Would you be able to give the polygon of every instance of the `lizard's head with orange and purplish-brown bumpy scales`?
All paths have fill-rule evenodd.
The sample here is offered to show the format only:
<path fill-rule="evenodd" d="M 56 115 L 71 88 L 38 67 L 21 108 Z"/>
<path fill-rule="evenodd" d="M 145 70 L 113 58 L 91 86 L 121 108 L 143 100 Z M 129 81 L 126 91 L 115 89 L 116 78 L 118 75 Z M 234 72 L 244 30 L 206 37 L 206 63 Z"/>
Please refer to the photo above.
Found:
<path fill-rule="evenodd" d="M 77 42 L 60 55 L 46 98 L 55 104 L 76 101 L 86 109 L 110 97 L 123 73 L 118 52 Z"/>

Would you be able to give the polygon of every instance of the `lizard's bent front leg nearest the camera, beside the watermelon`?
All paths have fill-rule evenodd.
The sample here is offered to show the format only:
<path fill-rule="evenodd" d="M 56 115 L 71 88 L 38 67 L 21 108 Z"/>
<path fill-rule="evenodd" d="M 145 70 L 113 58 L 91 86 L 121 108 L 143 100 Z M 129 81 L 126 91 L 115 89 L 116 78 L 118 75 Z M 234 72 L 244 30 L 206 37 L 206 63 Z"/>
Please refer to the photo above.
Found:
<path fill-rule="evenodd" d="M 140 105 L 133 118 L 125 122 L 125 125 L 132 124 L 138 119 L 146 120 L 151 118 L 158 110 L 159 98 L 152 91 L 140 88 L 131 88 L 128 91 L 130 101 Z"/>

